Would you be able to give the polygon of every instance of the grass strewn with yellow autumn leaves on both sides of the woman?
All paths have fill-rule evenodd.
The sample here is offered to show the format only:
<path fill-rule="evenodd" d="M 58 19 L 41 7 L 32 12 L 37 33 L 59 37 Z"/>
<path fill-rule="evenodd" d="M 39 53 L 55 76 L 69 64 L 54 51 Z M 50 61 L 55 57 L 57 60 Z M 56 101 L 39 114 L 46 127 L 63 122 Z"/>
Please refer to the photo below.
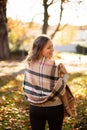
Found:
<path fill-rule="evenodd" d="M 23 74 L 0 78 L 0 130 L 31 130 L 22 80 Z M 68 84 L 76 97 L 77 116 L 65 118 L 63 130 L 87 130 L 87 75 L 72 73 Z"/>

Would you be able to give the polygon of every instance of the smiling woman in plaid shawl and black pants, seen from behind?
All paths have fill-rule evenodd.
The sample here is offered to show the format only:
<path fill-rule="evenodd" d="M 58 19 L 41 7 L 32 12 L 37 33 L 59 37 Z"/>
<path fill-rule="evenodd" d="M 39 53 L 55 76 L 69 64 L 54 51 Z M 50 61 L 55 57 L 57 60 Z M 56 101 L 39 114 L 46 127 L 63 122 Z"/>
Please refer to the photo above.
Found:
<path fill-rule="evenodd" d="M 45 130 L 46 122 L 49 130 L 62 130 L 64 107 L 59 95 L 64 95 L 66 81 L 63 75 L 59 78 L 58 67 L 67 72 L 63 64 L 57 66 L 52 60 L 53 51 L 50 38 L 41 35 L 27 57 L 24 92 L 30 102 L 32 130 Z"/>

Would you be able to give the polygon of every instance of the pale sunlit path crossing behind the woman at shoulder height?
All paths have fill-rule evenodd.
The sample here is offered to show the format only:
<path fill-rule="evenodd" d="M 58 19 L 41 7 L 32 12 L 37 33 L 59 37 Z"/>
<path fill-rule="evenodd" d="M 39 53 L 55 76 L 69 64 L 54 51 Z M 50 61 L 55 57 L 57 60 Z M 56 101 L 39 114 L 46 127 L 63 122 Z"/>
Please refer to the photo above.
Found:
<path fill-rule="evenodd" d="M 68 72 L 81 72 L 87 74 L 87 57 L 84 61 L 78 60 L 75 58 L 62 58 L 57 59 L 56 62 L 63 63 Z M 0 61 L 0 77 L 5 75 L 17 75 L 19 73 L 23 73 L 25 69 L 25 63 L 24 60 L 19 59 L 12 59 L 12 60 L 6 60 L 6 61 Z"/>

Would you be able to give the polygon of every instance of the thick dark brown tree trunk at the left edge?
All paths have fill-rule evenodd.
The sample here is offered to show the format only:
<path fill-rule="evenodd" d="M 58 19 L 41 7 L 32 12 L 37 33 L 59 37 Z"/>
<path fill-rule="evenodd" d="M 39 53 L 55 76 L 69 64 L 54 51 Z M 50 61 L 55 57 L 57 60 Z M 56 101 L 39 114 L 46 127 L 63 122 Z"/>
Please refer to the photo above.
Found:
<path fill-rule="evenodd" d="M 6 3 L 7 0 L 0 0 L 0 60 L 9 58 Z"/>

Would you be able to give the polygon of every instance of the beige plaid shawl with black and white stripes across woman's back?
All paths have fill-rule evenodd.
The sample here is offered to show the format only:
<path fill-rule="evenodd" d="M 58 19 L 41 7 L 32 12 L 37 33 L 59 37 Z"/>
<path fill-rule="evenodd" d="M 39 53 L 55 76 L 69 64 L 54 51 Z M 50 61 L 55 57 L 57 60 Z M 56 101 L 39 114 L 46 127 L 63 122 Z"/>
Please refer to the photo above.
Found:
<path fill-rule="evenodd" d="M 65 82 L 58 76 L 55 61 L 42 58 L 31 63 L 24 75 L 23 89 L 32 104 L 54 101 L 65 92 Z"/>

